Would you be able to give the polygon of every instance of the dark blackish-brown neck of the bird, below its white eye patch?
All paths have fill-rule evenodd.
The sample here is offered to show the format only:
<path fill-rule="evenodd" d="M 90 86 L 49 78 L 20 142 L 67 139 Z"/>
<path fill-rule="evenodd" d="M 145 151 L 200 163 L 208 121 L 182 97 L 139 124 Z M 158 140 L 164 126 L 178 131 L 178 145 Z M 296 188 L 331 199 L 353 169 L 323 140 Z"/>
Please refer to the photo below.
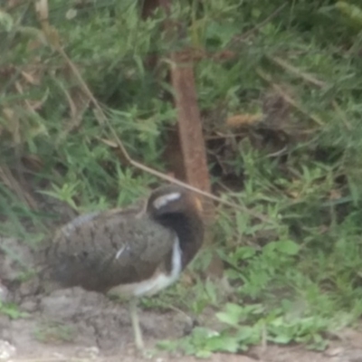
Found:
<path fill-rule="evenodd" d="M 156 221 L 176 233 L 184 269 L 203 243 L 204 226 L 201 217 L 197 214 L 172 213 L 159 215 Z"/>

